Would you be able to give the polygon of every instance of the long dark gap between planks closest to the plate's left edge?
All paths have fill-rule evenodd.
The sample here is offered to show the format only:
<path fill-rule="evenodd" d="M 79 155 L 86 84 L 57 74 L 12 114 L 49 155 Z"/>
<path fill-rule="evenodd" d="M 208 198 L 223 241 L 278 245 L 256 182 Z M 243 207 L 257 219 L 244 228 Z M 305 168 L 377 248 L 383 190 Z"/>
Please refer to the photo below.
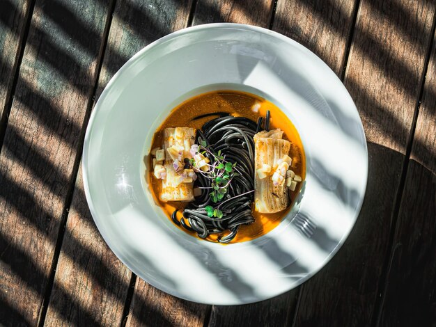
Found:
<path fill-rule="evenodd" d="M 67 196 L 65 198 L 65 205 L 63 207 L 61 222 L 59 223 L 59 232 L 58 232 L 58 237 L 56 239 L 56 246 L 54 248 L 54 255 L 53 255 L 53 260 L 52 260 L 52 266 L 50 269 L 50 274 L 49 274 L 49 278 L 47 280 L 47 287 L 45 289 L 44 298 L 42 299 L 42 305 L 40 308 L 40 314 L 39 314 L 39 318 L 38 318 L 38 326 L 39 327 L 42 327 L 45 324 L 45 317 L 47 315 L 50 296 L 52 294 L 52 289 L 53 289 L 53 285 L 54 285 L 54 277 L 56 275 L 56 266 L 57 266 L 58 261 L 59 261 L 59 255 L 61 254 L 63 236 L 65 234 L 65 228 L 66 228 L 66 223 L 68 220 L 68 214 L 70 212 L 72 196 L 74 195 L 77 174 L 79 172 L 79 166 L 80 166 L 80 160 L 81 160 L 81 150 L 84 146 L 86 126 L 88 125 L 88 120 L 89 120 L 89 117 L 91 115 L 91 109 L 92 109 L 93 104 L 94 104 L 95 93 L 97 92 L 97 88 L 98 88 L 98 81 L 99 81 L 99 77 L 100 77 L 100 72 L 102 70 L 103 57 L 104 57 L 104 52 L 106 51 L 107 40 L 109 38 L 109 30 L 110 30 L 111 23 L 112 23 L 112 17 L 114 15 L 115 4 L 116 4 L 116 0 L 111 0 L 111 2 L 109 3 L 109 11 L 108 11 L 107 20 L 106 20 L 106 26 L 104 26 L 104 33 L 103 33 L 104 40 L 102 42 L 102 46 L 100 47 L 100 51 L 98 54 L 98 65 L 95 68 L 95 82 L 94 82 L 93 88 L 90 90 L 90 93 L 88 94 L 88 99 L 90 99 L 91 101 L 89 101 L 88 107 L 86 108 L 84 124 L 82 126 L 81 131 L 80 131 L 79 143 L 78 143 L 78 152 L 76 154 L 75 162 L 74 162 L 73 169 L 72 169 L 71 181 L 70 181 L 70 185 L 68 186 Z M 1 140 L 1 141 L 3 141 L 3 140 Z"/>

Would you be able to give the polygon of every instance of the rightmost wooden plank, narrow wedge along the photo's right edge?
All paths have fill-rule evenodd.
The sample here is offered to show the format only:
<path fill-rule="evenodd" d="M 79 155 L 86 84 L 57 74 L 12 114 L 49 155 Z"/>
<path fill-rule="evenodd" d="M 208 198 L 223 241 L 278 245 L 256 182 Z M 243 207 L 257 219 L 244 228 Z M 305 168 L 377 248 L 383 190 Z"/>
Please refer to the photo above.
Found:
<path fill-rule="evenodd" d="M 389 258 L 379 326 L 436 322 L 436 35 Z"/>

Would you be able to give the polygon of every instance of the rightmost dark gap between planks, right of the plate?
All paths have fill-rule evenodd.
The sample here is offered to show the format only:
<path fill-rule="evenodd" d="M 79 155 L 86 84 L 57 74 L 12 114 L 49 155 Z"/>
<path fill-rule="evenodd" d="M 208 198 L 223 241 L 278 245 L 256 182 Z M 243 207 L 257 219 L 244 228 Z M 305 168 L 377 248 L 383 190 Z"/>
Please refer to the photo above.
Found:
<path fill-rule="evenodd" d="M 426 85 L 426 75 L 428 72 L 428 64 L 430 63 L 430 56 L 431 56 L 431 52 L 433 49 L 433 40 L 434 40 L 434 35 L 435 35 L 435 28 L 436 28 L 436 10 L 433 13 L 433 24 L 432 24 L 432 27 L 430 30 L 431 37 L 430 37 L 430 41 L 428 42 L 427 49 L 426 49 L 426 58 L 425 58 L 423 70 L 421 73 L 419 95 L 416 98 L 416 105 L 415 105 L 413 119 L 412 119 L 412 126 L 410 127 L 409 137 L 407 138 L 406 152 L 405 152 L 405 157 L 404 157 L 404 161 L 403 161 L 403 170 L 401 171 L 400 183 L 398 184 L 398 189 L 396 192 L 396 198 L 395 198 L 395 202 L 394 202 L 394 210 L 393 210 L 392 216 L 391 216 L 391 230 L 389 233 L 387 253 L 384 257 L 382 274 L 379 278 L 379 287 L 377 289 L 377 294 L 380 294 L 380 296 L 378 296 L 376 301 L 375 301 L 375 309 L 373 312 L 373 319 L 371 319 L 372 320 L 371 326 L 380 326 L 380 319 L 382 317 L 384 299 L 386 297 L 387 285 L 389 284 L 388 283 L 389 271 L 391 270 L 391 264 L 392 264 L 392 261 L 389 260 L 389 258 L 391 258 L 395 252 L 394 237 L 395 237 L 396 229 L 398 228 L 398 225 L 397 225 L 398 214 L 400 213 L 400 205 L 401 205 L 401 200 L 403 199 L 407 170 L 409 169 L 410 154 L 412 153 L 412 145 L 413 145 L 413 140 L 414 140 L 414 136 L 415 136 L 416 122 L 418 120 L 419 108 L 421 106 L 421 100 L 422 100 L 423 93 L 424 93 L 424 86 Z"/>

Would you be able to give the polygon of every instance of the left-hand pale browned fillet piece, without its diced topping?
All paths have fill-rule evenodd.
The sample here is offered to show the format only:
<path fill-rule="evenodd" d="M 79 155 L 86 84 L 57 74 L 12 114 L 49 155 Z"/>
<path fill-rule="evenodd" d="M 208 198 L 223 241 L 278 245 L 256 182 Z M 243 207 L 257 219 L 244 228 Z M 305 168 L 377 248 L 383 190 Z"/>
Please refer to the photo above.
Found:
<path fill-rule="evenodd" d="M 190 127 L 176 127 L 164 129 L 164 144 L 166 178 L 162 180 L 160 200 L 166 201 L 192 201 L 194 200 L 194 182 L 183 183 L 180 174 L 173 167 L 173 159 L 167 149 L 178 147 L 180 149 L 180 161 L 192 157 L 189 149 L 195 143 L 195 129 Z"/>

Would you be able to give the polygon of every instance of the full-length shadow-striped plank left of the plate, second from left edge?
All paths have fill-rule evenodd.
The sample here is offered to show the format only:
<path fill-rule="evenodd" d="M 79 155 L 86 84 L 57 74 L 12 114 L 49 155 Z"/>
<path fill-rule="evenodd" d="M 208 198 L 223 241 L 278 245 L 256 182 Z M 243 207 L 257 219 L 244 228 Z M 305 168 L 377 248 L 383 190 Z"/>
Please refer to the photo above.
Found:
<path fill-rule="evenodd" d="M 0 154 L 1 323 L 38 323 L 108 17 L 106 3 L 36 3 Z"/>

